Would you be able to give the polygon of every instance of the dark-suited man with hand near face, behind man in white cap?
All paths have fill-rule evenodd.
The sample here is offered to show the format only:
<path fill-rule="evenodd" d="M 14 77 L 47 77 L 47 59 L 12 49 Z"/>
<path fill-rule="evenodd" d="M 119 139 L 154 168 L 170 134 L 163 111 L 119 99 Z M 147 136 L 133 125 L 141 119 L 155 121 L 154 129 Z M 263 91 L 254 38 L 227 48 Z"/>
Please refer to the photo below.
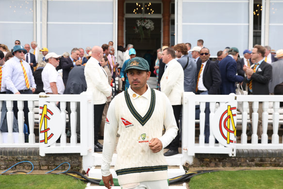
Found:
<path fill-rule="evenodd" d="M 69 76 L 69 72 L 72 68 L 76 66 L 81 66 L 82 62 L 79 59 L 80 51 L 78 48 L 74 48 L 71 51 L 70 57 L 61 59 L 61 66 L 63 69 L 63 83 L 66 86 Z"/>

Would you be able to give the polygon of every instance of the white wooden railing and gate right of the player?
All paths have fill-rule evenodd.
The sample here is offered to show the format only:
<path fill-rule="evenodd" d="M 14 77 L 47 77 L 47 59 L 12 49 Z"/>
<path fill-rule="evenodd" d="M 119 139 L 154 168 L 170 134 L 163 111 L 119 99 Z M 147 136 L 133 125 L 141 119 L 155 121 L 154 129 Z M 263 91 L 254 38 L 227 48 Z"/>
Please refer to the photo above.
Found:
<path fill-rule="evenodd" d="M 216 106 L 219 104 L 231 102 L 243 102 L 243 113 L 237 115 L 237 123 L 242 125 L 241 140 L 234 145 L 235 149 L 283 149 L 283 142 L 279 142 L 279 123 L 283 123 L 283 115 L 279 113 L 280 101 L 283 101 L 282 95 L 195 95 L 192 92 L 183 93 L 183 126 L 182 126 L 182 147 L 183 154 L 195 155 L 196 153 L 203 154 L 229 154 L 233 155 L 233 148 L 224 147 L 221 144 L 215 143 L 215 137 L 210 126 L 209 143 L 204 143 L 204 124 L 205 124 L 205 103 L 210 103 L 210 124 L 213 122 L 214 112 Z M 247 137 L 247 123 L 249 120 L 249 102 L 252 102 L 252 136 L 251 143 L 248 143 Z M 257 127 L 258 127 L 258 106 L 259 102 L 263 103 L 263 134 L 261 136 L 262 142 L 258 144 Z M 196 103 L 200 104 L 200 120 L 195 119 Z M 269 108 L 269 103 L 272 107 Z M 281 110 L 283 113 L 283 111 Z M 272 114 L 271 120 L 268 117 Z M 268 122 L 273 126 L 272 142 L 267 143 L 267 126 Z M 200 123 L 199 141 L 195 141 L 196 123 Z M 239 137 L 239 136 L 237 136 Z"/>

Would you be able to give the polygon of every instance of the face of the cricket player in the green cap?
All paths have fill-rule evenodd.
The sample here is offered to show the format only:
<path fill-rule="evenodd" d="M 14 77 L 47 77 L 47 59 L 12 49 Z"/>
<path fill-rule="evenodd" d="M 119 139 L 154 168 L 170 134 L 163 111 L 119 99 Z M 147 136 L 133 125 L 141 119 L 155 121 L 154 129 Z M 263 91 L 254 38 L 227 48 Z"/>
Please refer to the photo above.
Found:
<path fill-rule="evenodd" d="M 147 81 L 150 78 L 150 71 L 129 69 L 127 75 L 131 87 L 139 90 L 147 85 Z"/>

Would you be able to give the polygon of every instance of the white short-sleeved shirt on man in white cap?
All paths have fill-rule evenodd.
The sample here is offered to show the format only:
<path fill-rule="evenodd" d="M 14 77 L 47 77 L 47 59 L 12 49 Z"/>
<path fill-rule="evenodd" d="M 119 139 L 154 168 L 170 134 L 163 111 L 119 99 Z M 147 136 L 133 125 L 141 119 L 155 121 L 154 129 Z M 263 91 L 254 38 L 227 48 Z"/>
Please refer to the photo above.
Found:
<path fill-rule="evenodd" d="M 62 77 L 58 74 L 55 67 L 47 63 L 41 73 L 41 78 L 43 82 L 43 90 L 45 93 L 53 93 L 50 87 L 50 83 L 55 82 L 57 86 L 58 94 L 63 94 L 65 86 Z"/>

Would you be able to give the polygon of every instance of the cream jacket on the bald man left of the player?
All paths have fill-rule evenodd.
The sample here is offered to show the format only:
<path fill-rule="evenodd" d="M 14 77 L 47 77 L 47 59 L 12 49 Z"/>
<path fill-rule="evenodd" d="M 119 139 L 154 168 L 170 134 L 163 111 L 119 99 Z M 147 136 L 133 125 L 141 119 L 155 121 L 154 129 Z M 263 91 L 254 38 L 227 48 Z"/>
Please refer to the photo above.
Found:
<path fill-rule="evenodd" d="M 112 94 L 112 88 L 108 84 L 107 73 L 94 57 L 90 57 L 87 61 L 84 76 L 87 85 L 86 92 L 93 93 L 93 104 L 106 103 L 107 97 Z"/>

